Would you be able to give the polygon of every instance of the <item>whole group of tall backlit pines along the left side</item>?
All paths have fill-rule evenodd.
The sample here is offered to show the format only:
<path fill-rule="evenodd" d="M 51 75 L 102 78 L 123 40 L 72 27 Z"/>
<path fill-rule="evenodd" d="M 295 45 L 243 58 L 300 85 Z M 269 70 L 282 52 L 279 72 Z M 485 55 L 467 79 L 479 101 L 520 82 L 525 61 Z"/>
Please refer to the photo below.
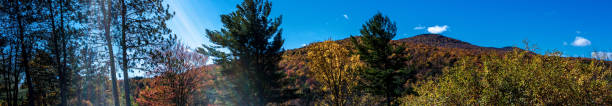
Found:
<path fill-rule="evenodd" d="M 129 73 L 155 68 L 150 57 L 176 42 L 168 8 L 162 0 L 0 1 L 0 105 L 131 105 Z"/>

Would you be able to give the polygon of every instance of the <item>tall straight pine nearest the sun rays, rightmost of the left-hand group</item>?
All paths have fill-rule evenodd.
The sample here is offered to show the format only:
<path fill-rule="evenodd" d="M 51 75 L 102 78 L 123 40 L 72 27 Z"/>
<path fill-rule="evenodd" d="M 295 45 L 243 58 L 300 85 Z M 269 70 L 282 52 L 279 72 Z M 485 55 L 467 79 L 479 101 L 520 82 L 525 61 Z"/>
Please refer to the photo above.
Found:
<path fill-rule="evenodd" d="M 174 43 L 174 36 L 170 35 L 170 28 L 166 21 L 174 14 L 169 11 L 169 6 L 163 5 L 163 0 L 119 0 L 121 25 L 117 26 L 121 31 L 118 40 L 121 52 L 121 69 L 123 70 L 123 87 L 127 106 L 131 106 L 130 79 L 128 73 L 131 70 L 141 69 L 147 71 L 146 64 L 152 50 L 161 46 L 169 46 Z"/>

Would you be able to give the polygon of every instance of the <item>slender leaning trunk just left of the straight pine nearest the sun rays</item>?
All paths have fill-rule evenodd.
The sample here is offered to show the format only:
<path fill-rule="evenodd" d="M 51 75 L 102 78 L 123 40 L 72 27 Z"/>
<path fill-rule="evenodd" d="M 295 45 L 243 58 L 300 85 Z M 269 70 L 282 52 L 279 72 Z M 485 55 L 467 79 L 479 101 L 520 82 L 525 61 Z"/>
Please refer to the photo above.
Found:
<path fill-rule="evenodd" d="M 110 9 L 111 2 L 110 0 L 106 0 L 106 9 L 104 9 L 104 36 L 106 38 L 106 46 L 108 48 L 108 55 L 110 56 L 109 65 L 111 68 L 111 80 L 113 85 L 113 100 L 115 102 L 115 106 L 119 106 L 119 92 L 117 90 L 117 72 L 115 68 L 115 55 L 113 52 L 113 44 L 112 38 L 110 36 Z M 104 8 L 104 3 L 102 3 L 102 8 Z"/>

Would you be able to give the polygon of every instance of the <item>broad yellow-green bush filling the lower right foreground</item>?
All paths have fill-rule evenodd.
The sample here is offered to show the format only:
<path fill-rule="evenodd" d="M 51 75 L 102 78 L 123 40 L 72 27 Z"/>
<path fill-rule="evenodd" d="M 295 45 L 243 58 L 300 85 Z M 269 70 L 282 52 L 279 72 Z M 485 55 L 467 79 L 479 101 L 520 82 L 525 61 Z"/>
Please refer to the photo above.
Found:
<path fill-rule="evenodd" d="M 515 50 L 502 57 L 467 57 L 438 79 L 418 82 L 404 105 L 611 105 L 612 70 Z"/>

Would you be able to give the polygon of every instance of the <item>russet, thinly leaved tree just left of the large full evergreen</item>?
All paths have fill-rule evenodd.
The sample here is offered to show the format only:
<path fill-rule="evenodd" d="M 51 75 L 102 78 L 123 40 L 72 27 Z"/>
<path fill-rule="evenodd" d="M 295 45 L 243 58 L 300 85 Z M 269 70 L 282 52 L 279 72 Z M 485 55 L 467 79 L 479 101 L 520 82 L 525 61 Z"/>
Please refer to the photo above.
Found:
<path fill-rule="evenodd" d="M 189 51 L 182 45 L 162 52 L 155 59 L 158 67 L 150 74 L 157 75 L 145 81 L 145 88 L 139 93 L 137 102 L 147 106 L 185 106 L 207 104 L 207 101 L 196 103 L 204 98 L 195 97 L 197 91 L 209 86 L 206 56 Z"/>

